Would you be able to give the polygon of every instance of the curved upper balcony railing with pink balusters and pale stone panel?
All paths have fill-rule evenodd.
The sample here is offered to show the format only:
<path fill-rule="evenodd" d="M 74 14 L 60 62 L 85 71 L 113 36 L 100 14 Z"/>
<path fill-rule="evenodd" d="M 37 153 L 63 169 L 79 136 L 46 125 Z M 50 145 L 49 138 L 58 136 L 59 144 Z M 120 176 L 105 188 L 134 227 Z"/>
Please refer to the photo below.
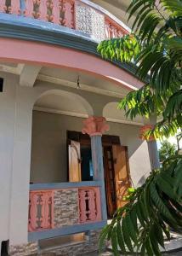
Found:
<path fill-rule="evenodd" d="M 98 40 L 128 33 L 117 18 L 85 0 L 1 0 L 0 12 L 52 22 Z"/>

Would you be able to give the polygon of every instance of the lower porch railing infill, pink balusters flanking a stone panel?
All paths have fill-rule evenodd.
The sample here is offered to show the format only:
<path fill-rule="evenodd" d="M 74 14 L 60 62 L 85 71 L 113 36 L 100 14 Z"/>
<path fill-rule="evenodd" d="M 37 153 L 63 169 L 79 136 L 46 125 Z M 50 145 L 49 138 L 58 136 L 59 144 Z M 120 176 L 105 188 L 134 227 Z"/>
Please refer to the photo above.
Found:
<path fill-rule="evenodd" d="M 101 221 L 100 187 L 30 191 L 29 232 Z"/>

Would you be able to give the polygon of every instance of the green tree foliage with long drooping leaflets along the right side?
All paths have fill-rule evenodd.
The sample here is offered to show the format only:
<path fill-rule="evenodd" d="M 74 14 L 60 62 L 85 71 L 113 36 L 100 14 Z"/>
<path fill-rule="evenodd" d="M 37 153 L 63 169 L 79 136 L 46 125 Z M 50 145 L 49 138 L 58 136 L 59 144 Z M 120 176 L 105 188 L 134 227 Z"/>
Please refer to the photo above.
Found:
<path fill-rule="evenodd" d="M 128 19 L 135 16 L 133 32 L 101 42 L 98 51 L 135 65 L 145 83 L 118 107 L 130 119 L 160 118 L 148 136 L 169 137 L 182 127 L 182 0 L 133 0 L 128 14 Z M 165 237 L 170 240 L 170 229 L 182 228 L 181 184 L 182 158 L 165 160 L 142 187 L 128 191 L 129 203 L 102 231 L 100 246 L 107 239 L 115 255 L 118 246 L 123 254 L 136 248 L 140 255 L 161 255 L 159 246 L 164 247 Z"/>

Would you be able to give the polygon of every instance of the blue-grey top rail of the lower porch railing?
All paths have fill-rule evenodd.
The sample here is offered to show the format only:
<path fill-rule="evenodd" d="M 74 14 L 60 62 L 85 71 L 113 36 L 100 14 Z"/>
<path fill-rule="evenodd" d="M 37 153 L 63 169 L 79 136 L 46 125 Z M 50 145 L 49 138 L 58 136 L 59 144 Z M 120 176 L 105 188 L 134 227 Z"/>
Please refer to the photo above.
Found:
<path fill-rule="evenodd" d="M 100 181 L 88 181 L 81 183 L 36 183 L 30 184 L 30 190 L 44 190 L 44 189 L 74 189 L 84 187 L 100 187 Z"/>

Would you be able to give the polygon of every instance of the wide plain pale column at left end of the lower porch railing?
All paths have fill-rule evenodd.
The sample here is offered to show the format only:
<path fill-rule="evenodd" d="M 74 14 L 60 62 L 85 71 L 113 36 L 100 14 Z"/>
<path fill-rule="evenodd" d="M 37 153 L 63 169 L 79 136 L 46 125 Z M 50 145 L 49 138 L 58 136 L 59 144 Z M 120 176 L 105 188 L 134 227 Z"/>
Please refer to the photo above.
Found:
<path fill-rule="evenodd" d="M 34 97 L 34 90 L 32 88 L 17 86 L 10 195 L 10 245 L 26 243 L 28 238 L 31 118 Z"/>

